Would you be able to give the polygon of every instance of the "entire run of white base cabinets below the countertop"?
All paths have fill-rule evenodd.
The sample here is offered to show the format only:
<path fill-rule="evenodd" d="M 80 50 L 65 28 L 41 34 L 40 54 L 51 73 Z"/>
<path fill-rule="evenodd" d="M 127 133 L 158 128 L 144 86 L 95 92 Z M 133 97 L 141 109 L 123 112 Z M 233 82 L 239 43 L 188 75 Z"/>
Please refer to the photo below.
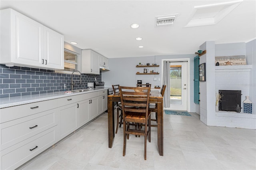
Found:
<path fill-rule="evenodd" d="M 18 168 L 106 110 L 107 90 L 0 109 L 0 169 Z"/>

